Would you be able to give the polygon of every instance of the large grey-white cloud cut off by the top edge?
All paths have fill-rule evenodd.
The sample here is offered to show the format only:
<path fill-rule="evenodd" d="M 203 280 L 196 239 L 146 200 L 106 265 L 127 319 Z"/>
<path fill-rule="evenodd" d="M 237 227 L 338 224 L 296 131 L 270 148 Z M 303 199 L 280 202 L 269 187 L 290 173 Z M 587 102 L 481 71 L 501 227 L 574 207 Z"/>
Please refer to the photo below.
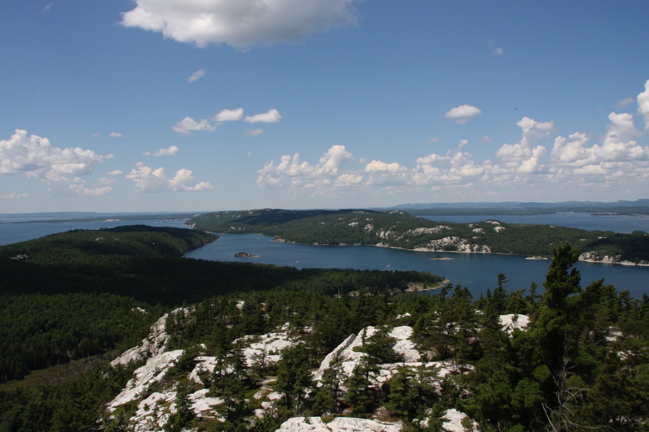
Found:
<path fill-rule="evenodd" d="M 297 43 L 308 34 L 354 25 L 357 0 L 136 0 L 123 12 L 127 27 L 162 32 L 165 38 L 226 43 L 235 48 Z"/>

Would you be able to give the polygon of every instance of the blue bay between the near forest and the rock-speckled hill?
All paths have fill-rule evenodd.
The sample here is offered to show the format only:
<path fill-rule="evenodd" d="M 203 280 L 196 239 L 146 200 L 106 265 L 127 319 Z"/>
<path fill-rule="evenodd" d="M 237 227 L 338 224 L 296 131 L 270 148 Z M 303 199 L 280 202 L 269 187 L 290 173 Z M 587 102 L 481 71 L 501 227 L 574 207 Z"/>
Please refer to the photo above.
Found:
<path fill-rule="evenodd" d="M 187 258 L 212 261 L 239 261 L 289 265 L 297 269 L 369 269 L 417 270 L 444 276 L 453 285 L 469 288 L 474 294 L 485 293 L 497 285 L 497 275 L 503 273 L 509 291 L 529 289 L 532 282 L 543 290 L 542 283 L 550 265 L 549 259 L 526 259 L 522 256 L 500 254 L 462 254 L 453 252 L 415 252 L 378 246 L 312 246 L 272 241 L 273 237 L 259 234 L 219 234 L 210 245 L 188 252 Z M 234 255 L 248 252 L 258 258 Z M 446 258 L 446 259 L 439 259 Z M 649 267 L 618 264 L 578 262 L 582 287 L 604 278 L 619 291 L 628 290 L 641 298 L 649 294 Z"/>

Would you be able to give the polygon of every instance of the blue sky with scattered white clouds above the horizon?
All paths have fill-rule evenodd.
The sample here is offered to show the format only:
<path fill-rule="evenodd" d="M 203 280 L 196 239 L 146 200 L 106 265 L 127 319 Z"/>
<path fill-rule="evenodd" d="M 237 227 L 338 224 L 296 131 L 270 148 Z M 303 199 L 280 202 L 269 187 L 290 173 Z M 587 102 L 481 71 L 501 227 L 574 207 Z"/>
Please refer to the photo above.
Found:
<path fill-rule="evenodd" d="M 649 198 L 649 2 L 6 0 L 0 213 Z"/>

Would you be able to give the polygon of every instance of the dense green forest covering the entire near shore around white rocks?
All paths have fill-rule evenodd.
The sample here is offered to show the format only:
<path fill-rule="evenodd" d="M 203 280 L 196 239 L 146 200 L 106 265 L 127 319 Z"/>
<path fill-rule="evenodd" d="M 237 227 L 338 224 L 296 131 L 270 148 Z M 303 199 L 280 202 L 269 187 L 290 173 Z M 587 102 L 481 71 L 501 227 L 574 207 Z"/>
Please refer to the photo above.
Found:
<path fill-rule="evenodd" d="M 117 242 L 121 234 L 128 245 Z M 100 247 L 101 237 L 117 243 Z M 164 424 L 147 430 L 275 431 L 288 418 L 314 416 L 439 431 L 448 409 L 467 414 L 467 430 L 649 430 L 649 296 L 631 298 L 604 281 L 582 287 L 572 267 L 580 252 L 569 243 L 554 249 L 542 286 L 508 287 L 500 274 L 476 298 L 451 285 L 431 295 L 402 292 L 440 282 L 427 273 L 297 270 L 177 254 L 212 239 L 134 227 L 0 247 L 0 368 L 3 381 L 13 379 L 0 387 L 0 431 L 134 430 L 133 419 L 151 409 L 144 398 L 156 394 L 173 394 L 174 402 L 160 405 Z M 182 313 L 166 315 L 165 350 L 182 354 L 140 399 L 107 409 L 144 363 L 108 361 L 172 309 Z M 504 329 L 506 314 L 530 322 Z M 390 348 L 391 331 L 406 327 L 419 366 Z M 245 348 L 280 330 L 291 344 L 269 353 L 277 361 L 245 363 Z M 353 373 L 345 375 L 334 356 L 314 381 L 312 372 L 352 334 L 363 339 Z M 103 353 L 94 366 L 56 379 L 35 370 Z M 190 378 L 207 358 L 217 365 L 212 372 Z M 386 364 L 395 370 L 378 381 Z M 282 396 L 258 415 L 270 403 L 254 396 L 263 387 Z M 192 411 L 196 394 L 220 401 L 214 415 Z"/>

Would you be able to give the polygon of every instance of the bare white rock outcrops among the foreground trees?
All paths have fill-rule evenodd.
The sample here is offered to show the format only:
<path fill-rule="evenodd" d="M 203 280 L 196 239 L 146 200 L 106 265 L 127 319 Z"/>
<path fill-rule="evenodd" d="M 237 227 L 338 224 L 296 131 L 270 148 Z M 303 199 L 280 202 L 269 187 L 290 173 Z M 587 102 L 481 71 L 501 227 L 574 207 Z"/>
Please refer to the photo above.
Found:
<path fill-rule="evenodd" d="M 172 311 L 175 317 L 191 317 L 191 309 L 176 309 Z M 125 388 L 106 405 L 106 412 L 110 416 L 115 416 L 123 411 L 123 407 L 136 407 L 129 414 L 127 419 L 126 430 L 134 432 L 157 432 L 163 431 L 165 425 L 173 414 L 178 411 L 178 394 L 180 392 L 178 381 L 169 379 L 169 371 L 177 365 L 181 357 L 186 354 L 186 350 L 167 350 L 167 341 L 169 335 L 165 329 L 165 323 L 169 315 L 161 317 L 153 326 L 151 333 L 139 346 L 127 350 L 112 363 L 112 366 L 126 365 L 133 361 L 141 361 L 147 358 L 145 365 L 137 368 L 132 379 L 129 380 Z M 500 317 L 504 331 L 512 331 L 513 328 L 523 329 L 528 324 L 529 319 L 525 315 L 503 315 Z M 240 346 L 241 356 L 243 357 L 246 367 L 251 367 L 258 361 L 260 355 L 263 355 L 265 361 L 275 363 L 280 361 L 281 352 L 286 348 L 300 343 L 299 335 L 290 335 L 287 331 L 288 326 L 278 328 L 277 331 L 265 333 L 263 335 L 247 335 L 237 340 Z M 387 335 L 395 341 L 392 350 L 400 357 L 397 363 L 387 363 L 378 365 L 378 370 L 372 374 L 371 381 L 374 385 L 383 385 L 387 383 L 402 368 L 421 368 L 435 372 L 435 376 L 441 379 L 450 374 L 457 374 L 458 367 L 452 362 L 445 361 L 426 361 L 422 363 L 422 353 L 415 343 L 410 340 L 413 329 L 410 326 L 396 326 L 385 329 L 369 326 L 363 329 L 358 335 L 350 335 L 335 350 L 324 357 L 321 365 L 317 370 L 312 371 L 313 380 L 321 381 L 323 373 L 332 366 L 334 361 L 341 362 L 344 376 L 341 377 L 339 385 L 343 385 L 346 377 L 349 377 L 354 368 L 366 357 L 361 348 L 365 344 L 372 343 L 372 337 L 377 332 L 387 330 Z M 304 329 L 309 331 L 309 329 Z M 186 396 L 188 408 L 193 416 L 198 418 L 214 418 L 217 421 L 224 420 L 219 414 L 217 407 L 225 401 L 222 398 L 211 396 L 209 386 L 204 383 L 206 374 L 214 374 L 219 371 L 223 374 L 232 374 L 232 366 L 223 367 L 219 359 L 210 355 L 204 355 L 200 350 L 206 349 L 206 346 L 199 346 L 199 355 L 196 355 L 191 363 L 194 365 L 191 372 L 186 378 L 195 383 L 198 390 L 195 390 Z M 223 370 L 219 370 L 223 368 Z M 258 400 L 260 408 L 254 411 L 251 424 L 256 420 L 254 418 L 263 418 L 264 416 L 274 415 L 276 411 L 276 401 L 284 395 L 273 388 L 274 378 L 265 379 L 260 383 L 260 388 L 254 394 L 254 399 Z M 456 410 L 448 410 L 444 414 L 444 427 L 448 431 L 464 431 L 462 419 L 465 414 Z M 428 419 L 418 420 L 421 426 L 425 426 Z M 368 432 L 368 431 L 385 431 L 398 432 L 403 425 L 400 422 L 383 422 L 377 419 L 353 418 L 348 416 L 339 416 L 330 422 L 324 422 L 320 417 L 297 417 L 291 418 L 284 422 L 277 429 L 280 431 L 302 432 L 302 431 L 345 431 L 345 432 Z M 193 429 L 185 429 L 189 432 Z"/>

